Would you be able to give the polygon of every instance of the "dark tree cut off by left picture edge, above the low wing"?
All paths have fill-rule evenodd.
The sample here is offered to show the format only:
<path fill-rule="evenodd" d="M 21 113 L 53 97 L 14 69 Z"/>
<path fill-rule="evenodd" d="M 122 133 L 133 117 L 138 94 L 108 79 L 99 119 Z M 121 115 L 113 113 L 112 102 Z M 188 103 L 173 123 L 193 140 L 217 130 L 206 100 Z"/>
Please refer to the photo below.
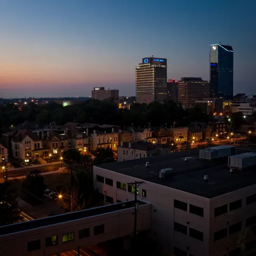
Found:
<path fill-rule="evenodd" d="M 20 219 L 17 193 L 9 181 L 0 183 L 0 226 L 9 225 Z"/>

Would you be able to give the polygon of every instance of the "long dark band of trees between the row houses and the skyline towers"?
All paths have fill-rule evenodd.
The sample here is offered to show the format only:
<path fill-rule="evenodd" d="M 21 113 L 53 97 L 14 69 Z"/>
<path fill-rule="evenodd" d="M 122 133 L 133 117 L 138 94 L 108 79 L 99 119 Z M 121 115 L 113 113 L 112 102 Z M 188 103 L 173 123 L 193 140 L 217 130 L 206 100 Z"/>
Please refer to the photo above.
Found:
<path fill-rule="evenodd" d="M 173 101 L 165 103 L 152 102 L 149 105 L 133 103 L 131 109 L 119 109 L 113 101 L 87 100 L 82 104 L 63 107 L 57 103 L 38 106 L 28 103 L 19 110 L 9 103 L 0 106 L 1 127 L 17 126 L 25 121 L 37 124 L 55 122 L 62 125 L 67 122 L 114 124 L 119 126 L 151 126 L 179 125 L 186 126 L 192 121 L 208 122 L 209 116 L 200 108 L 183 109 Z"/>

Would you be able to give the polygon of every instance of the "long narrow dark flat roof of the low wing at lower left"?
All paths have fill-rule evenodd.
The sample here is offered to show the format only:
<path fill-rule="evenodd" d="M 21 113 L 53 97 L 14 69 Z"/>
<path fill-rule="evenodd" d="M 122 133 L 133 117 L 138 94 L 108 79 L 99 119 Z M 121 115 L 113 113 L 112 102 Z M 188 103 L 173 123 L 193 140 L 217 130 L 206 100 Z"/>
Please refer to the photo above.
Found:
<path fill-rule="evenodd" d="M 139 205 L 146 204 L 145 202 L 142 202 L 139 200 L 137 201 L 137 203 Z M 60 214 L 52 217 L 46 217 L 43 219 L 30 220 L 30 221 L 16 223 L 12 225 L 6 225 L 6 226 L 0 227 L 0 236 L 9 235 L 12 233 L 17 233 L 17 232 L 26 231 L 26 230 L 35 229 L 35 228 L 42 228 L 42 227 L 59 224 L 67 221 L 84 219 L 87 217 L 93 217 L 95 215 L 129 209 L 132 207 L 134 207 L 134 201 L 127 201 L 127 202 L 122 202 L 117 204 L 95 207 L 92 209 L 87 209 L 87 210 L 78 211 L 78 212 Z"/>

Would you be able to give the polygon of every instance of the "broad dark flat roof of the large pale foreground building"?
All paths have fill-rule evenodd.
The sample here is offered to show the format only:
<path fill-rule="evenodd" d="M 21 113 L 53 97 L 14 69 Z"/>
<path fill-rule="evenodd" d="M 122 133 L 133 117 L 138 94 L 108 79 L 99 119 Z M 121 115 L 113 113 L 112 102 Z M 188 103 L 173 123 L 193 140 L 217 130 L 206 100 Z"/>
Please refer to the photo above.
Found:
<path fill-rule="evenodd" d="M 246 151 L 248 152 L 246 149 L 236 148 L 236 154 Z M 188 162 L 185 162 L 185 157 L 188 157 Z M 146 168 L 146 162 L 149 162 L 149 168 Z M 255 166 L 230 173 L 227 165 L 228 157 L 212 161 L 200 159 L 199 150 L 195 149 L 182 153 L 102 164 L 98 167 L 206 198 L 220 196 L 256 183 Z M 161 179 L 158 176 L 159 172 L 165 168 L 172 168 L 174 175 Z M 208 175 L 209 182 L 204 181 L 204 175 Z"/>

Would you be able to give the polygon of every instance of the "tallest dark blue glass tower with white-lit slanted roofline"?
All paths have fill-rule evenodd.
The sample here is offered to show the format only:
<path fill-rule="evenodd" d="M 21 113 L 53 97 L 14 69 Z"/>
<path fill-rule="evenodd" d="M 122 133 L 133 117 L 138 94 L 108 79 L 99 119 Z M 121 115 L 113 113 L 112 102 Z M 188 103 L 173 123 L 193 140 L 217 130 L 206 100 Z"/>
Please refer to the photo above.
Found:
<path fill-rule="evenodd" d="M 233 48 L 230 45 L 210 46 L 211 97 L 233 98 Z"/>

